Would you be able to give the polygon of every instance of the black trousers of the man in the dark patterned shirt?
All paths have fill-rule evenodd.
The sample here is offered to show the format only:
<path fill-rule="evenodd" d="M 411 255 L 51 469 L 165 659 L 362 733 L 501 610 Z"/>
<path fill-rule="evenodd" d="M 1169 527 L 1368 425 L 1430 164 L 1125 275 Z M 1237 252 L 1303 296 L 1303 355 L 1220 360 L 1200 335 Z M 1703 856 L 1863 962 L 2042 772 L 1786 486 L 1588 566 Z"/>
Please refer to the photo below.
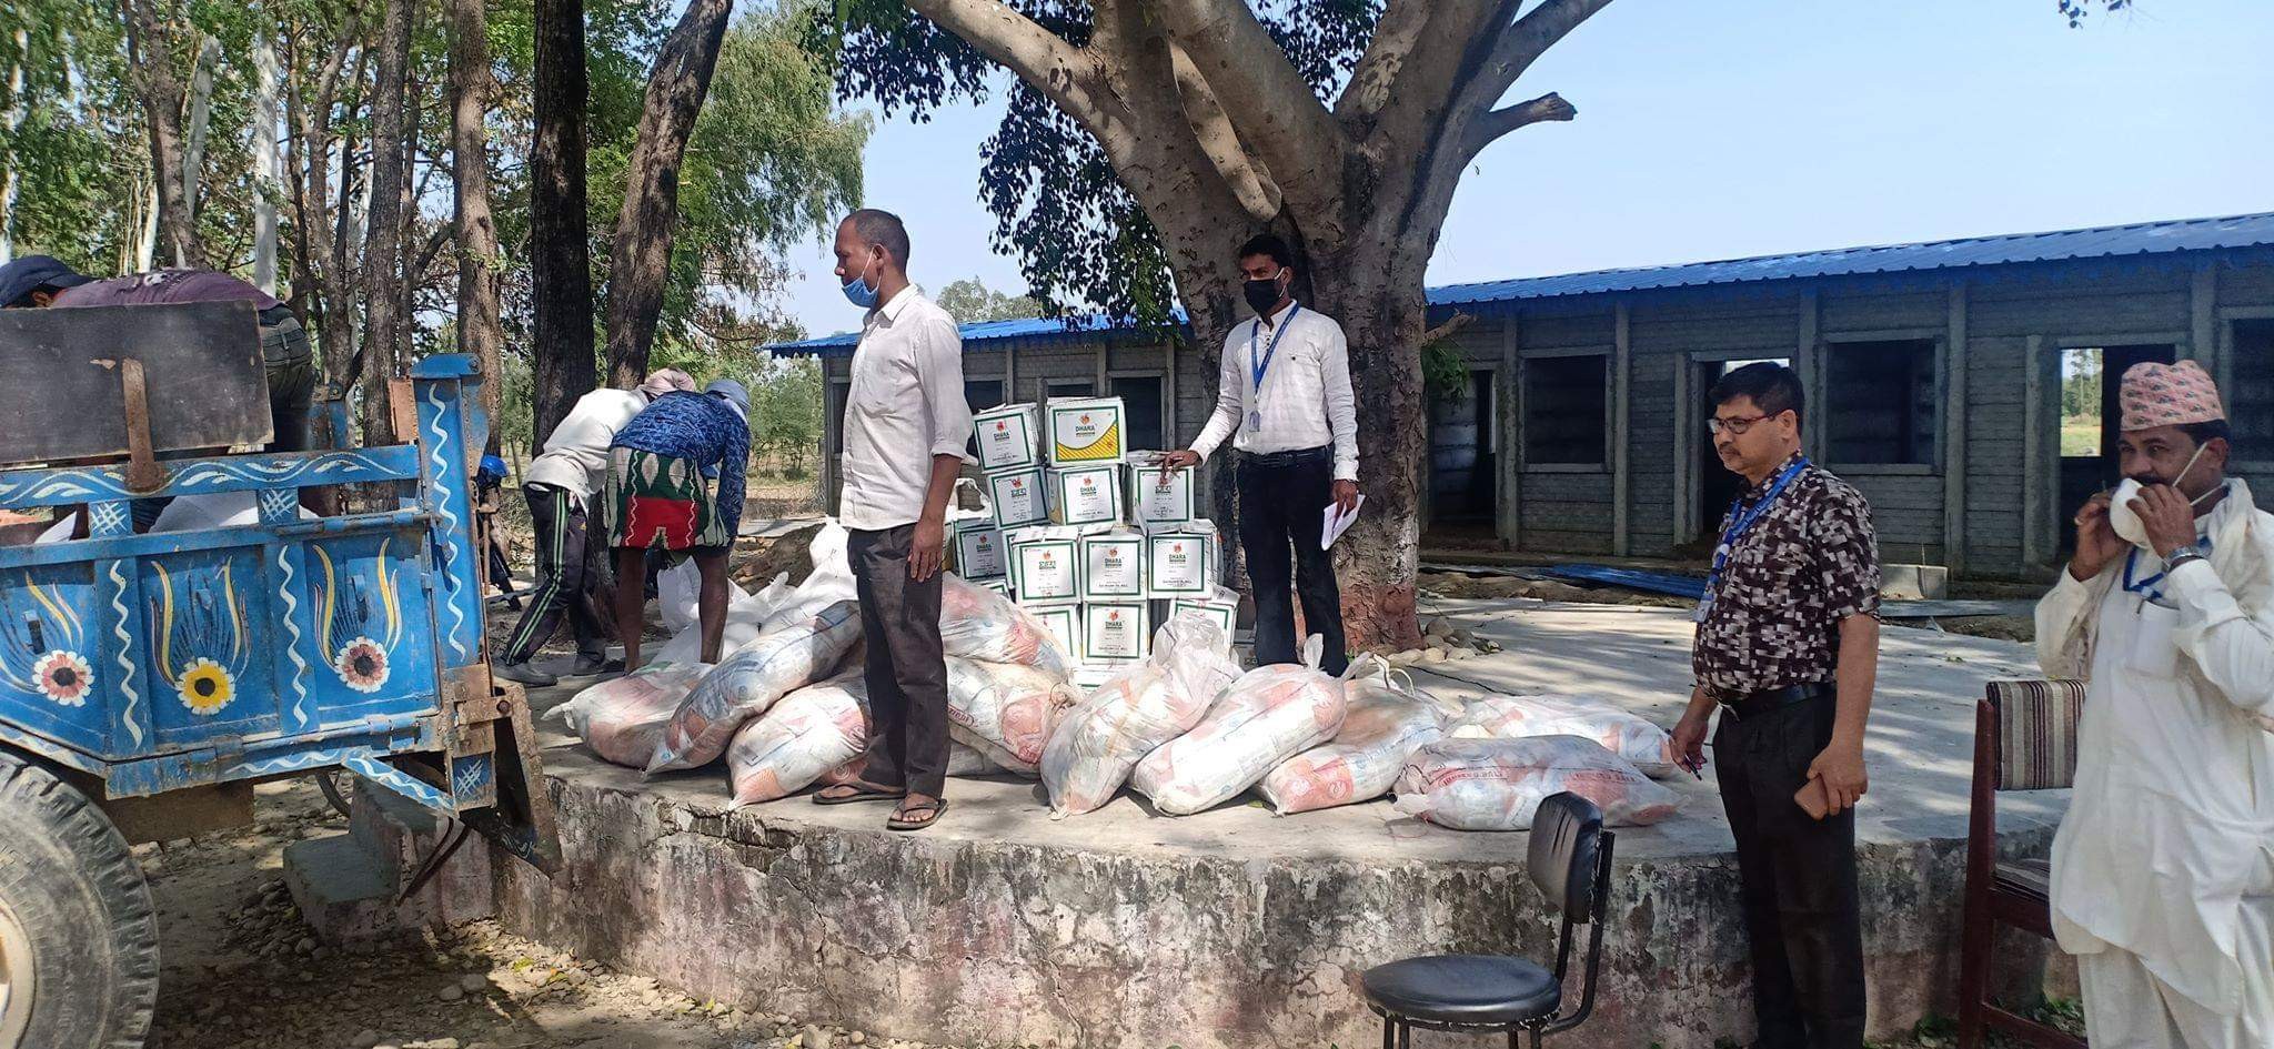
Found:
<path fill-rule="evenodd" d="M 1715 730 L 1762 1049 L 1862 1047 L 1856 810 L 1815 821 L 1792 801 L 1833 742 L 1837 708 L 1824 696 L 1746 719 L 1721 710 Z"/>

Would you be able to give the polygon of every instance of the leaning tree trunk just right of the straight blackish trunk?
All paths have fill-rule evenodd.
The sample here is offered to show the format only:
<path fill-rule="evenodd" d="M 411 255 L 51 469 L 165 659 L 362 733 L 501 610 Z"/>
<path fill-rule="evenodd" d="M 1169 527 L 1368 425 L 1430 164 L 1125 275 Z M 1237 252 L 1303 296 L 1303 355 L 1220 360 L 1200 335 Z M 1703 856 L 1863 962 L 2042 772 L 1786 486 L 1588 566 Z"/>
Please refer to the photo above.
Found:
<path fill-rule="evenodd" d="M 648 373 L 648 348 L 655 346 L 664 280 L 671 275 L 671 234 L 680 223 L 680 159 L 696 130 L 696 114 L 703 111 L 703 96 L 709 93 L 719 41 L 725 39 L 732 14 L 735 0 L 689 2 L 648 75 L 607 271 L 609 382 L 623 389 L 637 387 Z"/>

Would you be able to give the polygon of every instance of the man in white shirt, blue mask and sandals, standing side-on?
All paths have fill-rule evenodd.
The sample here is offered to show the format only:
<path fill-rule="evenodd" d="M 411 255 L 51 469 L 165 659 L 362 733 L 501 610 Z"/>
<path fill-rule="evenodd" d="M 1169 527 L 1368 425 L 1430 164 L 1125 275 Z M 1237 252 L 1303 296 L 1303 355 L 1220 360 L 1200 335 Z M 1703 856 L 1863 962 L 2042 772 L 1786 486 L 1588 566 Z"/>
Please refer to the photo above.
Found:
<path fill-rule="evenodd" d="M 816 803 L 896 801 L 894 831 L 939 821 L 948 771 L 948 664 L 939 649 L 939 567 L 948 494 L 964 466 L 971 405 L 955 319 L 907 282 L 907 228 L 860 209 L 837 225 L 837 278 L 869 309 L 853 348 L 837 521 L 860 596 L 869 728 L 860 778 Z"/>

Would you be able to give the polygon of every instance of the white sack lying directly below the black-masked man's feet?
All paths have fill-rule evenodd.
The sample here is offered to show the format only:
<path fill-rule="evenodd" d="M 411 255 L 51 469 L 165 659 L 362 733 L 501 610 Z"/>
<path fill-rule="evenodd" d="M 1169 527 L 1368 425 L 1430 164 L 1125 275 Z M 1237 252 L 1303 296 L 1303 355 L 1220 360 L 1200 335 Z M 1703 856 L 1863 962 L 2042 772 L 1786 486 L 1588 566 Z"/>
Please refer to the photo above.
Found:
<path fill-rule="evenodd" d="M 1264 778 L 1273 765 L 1335 737 L 1342 728 L 1342 680 L 1319 674 L 1319 637 L 1303 644 L 1303 664 L 1258 667 L 1230 683 L 1189 733 L 1144 755 L 1130 785 L 1167 815 L 1221 806 Z"/>

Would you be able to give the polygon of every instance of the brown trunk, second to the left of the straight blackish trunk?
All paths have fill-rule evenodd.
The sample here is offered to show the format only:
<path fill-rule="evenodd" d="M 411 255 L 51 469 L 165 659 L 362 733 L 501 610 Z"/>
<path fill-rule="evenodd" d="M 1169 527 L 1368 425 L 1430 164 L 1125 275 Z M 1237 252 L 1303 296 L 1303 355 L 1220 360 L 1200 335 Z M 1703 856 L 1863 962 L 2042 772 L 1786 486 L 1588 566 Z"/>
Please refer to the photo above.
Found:
<path fill-rule="evenodd" d="M 416 0 L 387 0 L 380 30 L 380 75 L 371 93 L 371 232 L 364 234 L 364 294 L 371 316 L 364 337 L 364 446 L 396 444 L 387 382 L 409 344 L 402 309 L 402 189 L 405 84 L 412 57 Z"/>

